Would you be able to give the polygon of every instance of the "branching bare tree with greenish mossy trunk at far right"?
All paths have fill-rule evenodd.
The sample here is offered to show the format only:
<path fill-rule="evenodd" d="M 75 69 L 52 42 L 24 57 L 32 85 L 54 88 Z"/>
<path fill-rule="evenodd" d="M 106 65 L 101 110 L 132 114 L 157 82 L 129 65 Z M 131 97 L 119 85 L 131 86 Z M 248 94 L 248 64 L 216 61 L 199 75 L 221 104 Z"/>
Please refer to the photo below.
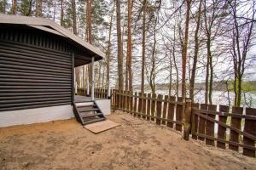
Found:
<path fill-rule="evenodd" d="M 238 6 L 241 3 L 247 3 L 247 14 L 242 14 L 243 11 L 239 10 Z M 235 93 L 235 106 L 241 105 L 241 82 L 247 68 L 248 52 L 253 47 L 253 29 L 255 28 L 255 1 L 241 2 L 229 1 L 231 8 L 231 16 L 233 20 L 232 34 L 231 34 L 231 47 L 232 61 L 234 67 L 234 93 Z M 247 15 L 248 19 L 244 20 L 241 15 Z"/>

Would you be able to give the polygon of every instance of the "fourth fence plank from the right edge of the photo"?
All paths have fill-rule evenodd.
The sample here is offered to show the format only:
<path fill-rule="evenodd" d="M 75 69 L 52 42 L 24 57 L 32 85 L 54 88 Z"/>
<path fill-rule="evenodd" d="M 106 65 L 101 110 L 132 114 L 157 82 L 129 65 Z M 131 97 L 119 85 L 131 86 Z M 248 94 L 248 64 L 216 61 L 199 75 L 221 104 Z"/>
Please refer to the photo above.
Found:
<path fill-rule="evenodd" d="M 216 111 L 217 110 L 217 105 L 208 105 L 208 111 Z M 207 115 L 209 117 L 212 117 L 212 119 L 215 119 L 215 115 Z M 206 134 L 208 136 L 214 137 L 214 122 L 207 121 L 206 122 Z M 206 144 L 214 146 L 214 140 L 212 139 L 206 139 Z"/>

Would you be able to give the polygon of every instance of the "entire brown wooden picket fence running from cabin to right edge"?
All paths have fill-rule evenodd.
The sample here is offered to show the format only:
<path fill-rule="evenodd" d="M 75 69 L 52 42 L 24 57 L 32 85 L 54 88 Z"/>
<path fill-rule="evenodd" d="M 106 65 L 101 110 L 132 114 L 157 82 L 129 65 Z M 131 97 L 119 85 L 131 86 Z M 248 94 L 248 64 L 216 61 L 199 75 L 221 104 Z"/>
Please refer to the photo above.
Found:
<path fill-rule="evenodd" d="M 107 98 L 107 90 L 96 89 L 96 98 Z M 80 94 L 81 95 L 81 94 Z M 111 91 L 113 110 L 183 132 L 183 138 L 198 139 L 221 149 L 241 151 L 255 157 L 256 109 L 191 103 L 175 96 Z M 218 108 L 218 111 L 217 111 Z"/>

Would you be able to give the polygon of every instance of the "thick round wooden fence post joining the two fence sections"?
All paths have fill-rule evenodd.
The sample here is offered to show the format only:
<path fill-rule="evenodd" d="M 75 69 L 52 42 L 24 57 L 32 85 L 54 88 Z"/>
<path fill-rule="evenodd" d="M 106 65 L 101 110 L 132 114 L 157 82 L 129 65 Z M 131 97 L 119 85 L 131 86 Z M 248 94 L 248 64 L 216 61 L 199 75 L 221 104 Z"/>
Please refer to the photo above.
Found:
<path fill-rule="evenodd" d="M 185 122 L 184 122 L 184 133 L 183 138 L 189 140 L 189 132 L 191 128 L 191 99 L 186 99 L 185 105 Z"/>

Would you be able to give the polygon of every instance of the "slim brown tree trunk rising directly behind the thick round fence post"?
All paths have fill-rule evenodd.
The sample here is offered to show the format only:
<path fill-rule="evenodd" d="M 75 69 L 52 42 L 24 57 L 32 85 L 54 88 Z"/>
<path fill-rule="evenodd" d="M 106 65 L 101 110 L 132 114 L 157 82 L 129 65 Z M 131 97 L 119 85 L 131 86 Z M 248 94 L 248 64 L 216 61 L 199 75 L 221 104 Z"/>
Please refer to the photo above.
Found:
<path fill-rule="evenodd" d="M 195 71 L 196 71 L 196 65 L 197 65 L 197 57 L 198 57 L 198 51 L 199 51 L 199 40 L 198 40 L 198 32 L 201 26 L 201 4 L 202 0 L 200 0 L 199 8 L 198 8 L 198 16 L 196 21 L 196 28 L 195 28 L 195 51 L 194 51 L 194 59 L 193 59 L 193 66 L 191 71 L 191 78 L 189 82 L 189 98 L 194 101 L 194 88 L 195 88 Z"/>

